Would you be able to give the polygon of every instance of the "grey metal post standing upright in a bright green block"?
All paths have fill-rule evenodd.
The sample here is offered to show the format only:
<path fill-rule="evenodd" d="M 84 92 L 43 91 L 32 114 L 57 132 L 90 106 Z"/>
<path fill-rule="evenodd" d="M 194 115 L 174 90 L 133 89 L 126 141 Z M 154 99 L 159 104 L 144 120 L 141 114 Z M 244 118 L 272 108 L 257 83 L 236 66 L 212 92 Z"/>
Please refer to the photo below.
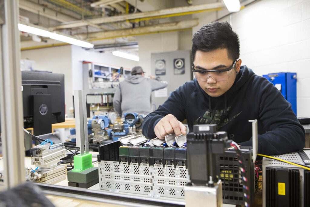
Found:
<path fill-rule="evenodd" d="M 77 147 L 80 147 L 81 155 L 84 155 L 85 153 L 87 154 L 89 150 L 86 118 L 86 96 L 83 90 L 74 91 L 74 111 Z"/>

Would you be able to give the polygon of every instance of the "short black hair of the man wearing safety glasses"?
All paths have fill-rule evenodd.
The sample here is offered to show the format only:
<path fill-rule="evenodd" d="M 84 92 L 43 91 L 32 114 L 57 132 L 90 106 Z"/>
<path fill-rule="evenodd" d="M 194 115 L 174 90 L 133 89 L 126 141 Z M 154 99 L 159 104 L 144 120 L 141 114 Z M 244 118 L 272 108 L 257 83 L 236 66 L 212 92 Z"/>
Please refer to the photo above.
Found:
<path fill-rule="evenodd" d="M 215 49 L 228 51 L 228 57 L 233 61 L 239 58 L 240 43 L 237 33 L 232 31 L 228 22 L 214 21 L 201 27 L 193 36 L 192 56 L 195 60 L 196 51 L 210 52 Z"/>

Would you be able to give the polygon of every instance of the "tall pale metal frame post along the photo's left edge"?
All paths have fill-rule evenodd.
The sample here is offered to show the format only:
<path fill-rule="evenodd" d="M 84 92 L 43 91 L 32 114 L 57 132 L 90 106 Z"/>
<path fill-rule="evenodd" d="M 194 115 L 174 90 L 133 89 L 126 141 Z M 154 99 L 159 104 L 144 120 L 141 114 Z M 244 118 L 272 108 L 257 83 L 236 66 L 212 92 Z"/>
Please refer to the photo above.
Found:
<path fill-rule="evenodd" d="M 4 187 L 25 181 L 19 1 L 0 0 L 0 110 Z M 3 187 L 3 186 L 2 186 Z"/>

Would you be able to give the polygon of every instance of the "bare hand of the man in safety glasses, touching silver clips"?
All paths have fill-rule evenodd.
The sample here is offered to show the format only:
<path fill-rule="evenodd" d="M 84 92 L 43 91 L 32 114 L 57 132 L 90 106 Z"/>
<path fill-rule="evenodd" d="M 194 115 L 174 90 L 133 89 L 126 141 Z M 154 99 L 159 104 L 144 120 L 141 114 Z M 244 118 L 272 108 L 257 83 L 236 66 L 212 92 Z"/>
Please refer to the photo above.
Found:
<path fill-rule="evenodd" d="M 186 127 L 174 115 L 168 114 L 163 117 L 155 126 L 154 132 L 160 139 L 165 139 L 168 134 L 175 133 L 176 136 L 186 134 Z"/>

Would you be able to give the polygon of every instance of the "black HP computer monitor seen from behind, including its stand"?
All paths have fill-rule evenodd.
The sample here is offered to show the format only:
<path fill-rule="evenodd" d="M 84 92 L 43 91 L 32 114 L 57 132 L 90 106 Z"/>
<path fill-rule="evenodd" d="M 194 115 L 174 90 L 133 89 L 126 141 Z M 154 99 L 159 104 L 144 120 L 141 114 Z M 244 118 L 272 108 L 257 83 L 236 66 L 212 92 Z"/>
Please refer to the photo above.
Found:
<path fill-rule="evenodd" d="M 51 124 L 64 122 L 64 74 L 22 71 L 24 128 L 34 135 L 51 133 Z"/>

